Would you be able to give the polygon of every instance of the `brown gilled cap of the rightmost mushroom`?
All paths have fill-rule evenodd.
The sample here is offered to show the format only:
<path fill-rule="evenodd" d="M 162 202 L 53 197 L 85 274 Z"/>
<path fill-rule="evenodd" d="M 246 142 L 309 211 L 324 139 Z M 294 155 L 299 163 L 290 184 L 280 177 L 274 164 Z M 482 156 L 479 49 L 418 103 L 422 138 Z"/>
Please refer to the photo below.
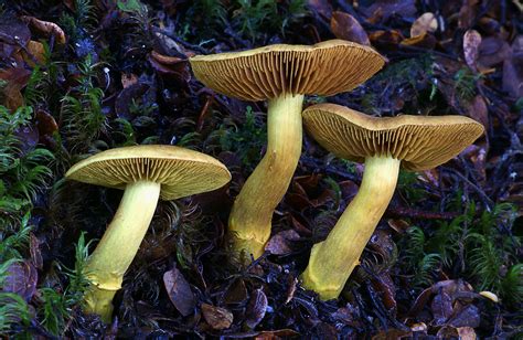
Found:
<path fill-rule="evenodd" d="M 307 131 L 327 150 L 357 162 L 392 156 L 410 171 L 433 169 L 456 157 L 483 134 L 483 126 L 462 116 L 376 118 L 335 104 L 303 110 Z"/>

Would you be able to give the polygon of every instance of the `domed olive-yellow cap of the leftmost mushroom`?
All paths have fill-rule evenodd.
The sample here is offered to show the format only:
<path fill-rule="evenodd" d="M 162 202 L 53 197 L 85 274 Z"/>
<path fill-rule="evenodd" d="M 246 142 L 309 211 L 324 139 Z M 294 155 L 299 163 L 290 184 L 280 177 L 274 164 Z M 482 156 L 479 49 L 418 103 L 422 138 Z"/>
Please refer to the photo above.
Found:
<path fill-rule="evenodd" d="M 152 181 L 161 184 L 162 200 L 215 190 L 231 180 L 227 168 L 211 156 L 159 145 L 99 152 L 74 164 L 65 177 L 116 189 L 140 180 Z"/>

